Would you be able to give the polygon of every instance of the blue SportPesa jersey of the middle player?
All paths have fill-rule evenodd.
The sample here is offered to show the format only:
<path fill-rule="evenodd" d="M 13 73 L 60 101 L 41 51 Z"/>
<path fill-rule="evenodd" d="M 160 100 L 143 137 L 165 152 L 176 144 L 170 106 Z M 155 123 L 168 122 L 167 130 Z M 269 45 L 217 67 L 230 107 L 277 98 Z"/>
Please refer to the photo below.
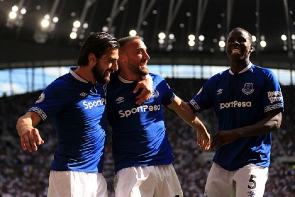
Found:
<path fill-rule="evenodd" d="M 153 73 L 150 76 L 154 86 L 152 97 L 141 105 L 135 103 L 137 95 L 133 93 L 137 82 L 118 75 L 108 84 L 107 110 L 113 130 L 116 173 L 125 167 L 164 165 L 174 161 L 165 134 L 162 104 L 170 104 L 175 95 L 163 77 Z"/>

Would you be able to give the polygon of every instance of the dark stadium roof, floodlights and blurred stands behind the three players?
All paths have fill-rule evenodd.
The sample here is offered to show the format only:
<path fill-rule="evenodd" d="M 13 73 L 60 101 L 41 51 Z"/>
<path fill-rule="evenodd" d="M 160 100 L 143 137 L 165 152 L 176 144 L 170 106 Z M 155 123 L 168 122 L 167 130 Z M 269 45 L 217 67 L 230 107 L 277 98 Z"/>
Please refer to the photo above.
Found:
<path fill-rule="evenodd" d="M 151 70 L 187 101 L 209 76 L 229 66 L 222 41 L 235 27 L 256 36 L 251 61 L 273 69 L 282 84 L 285 112 L 281 129 L 273 132 L 265 197 L 295 196 L 294 11 L 294 0 L 0 0 L 0 196 L 46 196 L 54 127 L 51 121 L 38 126 L 45 144 L 30 154 L 21 150 L 15 124 L 53 76 L 76 65 L 91 32 L 119 38 L 135 30 L 148 46 Z M 74 28 L 76 20 L 81 25 Z M 184 196 L 202 197 L 214 152 L 201 151 L 195 131 L 164 113 Z M 213 111 L 200 118 L 208 131 L 217 131 Z M 114 197 L 110 133 L 103 174 Z"/>

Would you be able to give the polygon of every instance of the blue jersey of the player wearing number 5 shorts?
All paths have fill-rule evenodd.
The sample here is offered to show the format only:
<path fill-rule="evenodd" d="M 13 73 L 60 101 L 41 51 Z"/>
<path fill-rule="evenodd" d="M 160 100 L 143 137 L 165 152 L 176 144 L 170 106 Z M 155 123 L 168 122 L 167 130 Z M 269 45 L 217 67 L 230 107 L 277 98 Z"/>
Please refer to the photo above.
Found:
<path fill-rule="evenodd" d="M 267 111 L 281 108 L 283 96 L 280 85 L 267 68 L 249 63 L 238 74 L 230 69 L 212 76 L 190 100 L 198 111 L 214 108 L 219 120 L 219 131 L 254 125 Z M 269 166 L 271 132 L 258 136 L 241 137 L 221 146 L 213 162 L 227 170 L 246 164 Z"/>

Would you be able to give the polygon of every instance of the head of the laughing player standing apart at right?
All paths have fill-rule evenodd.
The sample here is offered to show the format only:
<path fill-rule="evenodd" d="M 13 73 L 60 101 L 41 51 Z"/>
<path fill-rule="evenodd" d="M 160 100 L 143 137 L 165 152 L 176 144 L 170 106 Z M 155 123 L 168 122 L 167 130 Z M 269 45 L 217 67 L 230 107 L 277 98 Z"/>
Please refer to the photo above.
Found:
<path fill-rule="evenodd" d="M 231 61 L 250 62 L 252 50 L 253 47 L 249 33 L 243 30 L 234 30 L 229 34 L 226 53 Z"/>

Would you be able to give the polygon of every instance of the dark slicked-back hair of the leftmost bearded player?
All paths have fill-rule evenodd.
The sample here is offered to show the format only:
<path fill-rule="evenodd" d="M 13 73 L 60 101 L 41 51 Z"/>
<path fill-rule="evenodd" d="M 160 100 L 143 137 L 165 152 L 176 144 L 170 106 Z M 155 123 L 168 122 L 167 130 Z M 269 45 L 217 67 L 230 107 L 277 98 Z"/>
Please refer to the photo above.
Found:
<path fill-rule="evenodd" d="M 89 64 L 88 56 L 90 53 L 93 53 L 99 59 L 108 52 L 109 48 L 119 48 L 117 38 L 104 32 L 93 33 L 83 42 L 79 51 L 77 64 L 79 66 L 86 66 Z"/>

